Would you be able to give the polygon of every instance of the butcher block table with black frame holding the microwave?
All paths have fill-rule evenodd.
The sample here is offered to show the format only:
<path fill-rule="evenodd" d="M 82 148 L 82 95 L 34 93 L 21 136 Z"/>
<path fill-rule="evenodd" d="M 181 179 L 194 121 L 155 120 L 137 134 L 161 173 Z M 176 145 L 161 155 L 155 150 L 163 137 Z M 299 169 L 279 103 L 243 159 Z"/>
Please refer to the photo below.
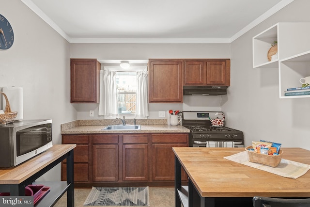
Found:
<path fill-rule="evenodd" d="M 67 159 L 67 181 L 34 182 L 50 187 L 50 191 L 36 204 L 36 207 L 53 206 L 67 191 L 67 206 L 74 207 L 73 149 L 76 144 L 56 144 L 47 151 L 15 167 L 0 168 L 0 192 L 12 196 L 25 195 L 25 187 Z"/>

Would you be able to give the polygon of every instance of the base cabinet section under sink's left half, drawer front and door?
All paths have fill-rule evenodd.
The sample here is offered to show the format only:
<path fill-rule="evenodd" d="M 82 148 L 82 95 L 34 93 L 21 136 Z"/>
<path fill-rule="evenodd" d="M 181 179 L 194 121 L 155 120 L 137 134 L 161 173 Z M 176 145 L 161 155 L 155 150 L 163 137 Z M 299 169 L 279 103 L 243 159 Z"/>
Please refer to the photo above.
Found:
<path fill-rule="evenodd" d="M 118 181 L 118 135 L 93 135 L 93 182 Z"/>

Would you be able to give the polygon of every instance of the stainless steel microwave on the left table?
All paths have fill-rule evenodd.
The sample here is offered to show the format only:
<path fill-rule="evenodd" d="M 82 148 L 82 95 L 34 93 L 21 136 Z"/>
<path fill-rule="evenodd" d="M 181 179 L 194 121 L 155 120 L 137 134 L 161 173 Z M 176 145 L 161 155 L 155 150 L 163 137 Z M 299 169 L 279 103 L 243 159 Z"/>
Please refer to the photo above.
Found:
<path fill-rule="evenodd" d="M 52 146 L 50 119 L 0 125 L 0 167 L 16 166 Z"/>

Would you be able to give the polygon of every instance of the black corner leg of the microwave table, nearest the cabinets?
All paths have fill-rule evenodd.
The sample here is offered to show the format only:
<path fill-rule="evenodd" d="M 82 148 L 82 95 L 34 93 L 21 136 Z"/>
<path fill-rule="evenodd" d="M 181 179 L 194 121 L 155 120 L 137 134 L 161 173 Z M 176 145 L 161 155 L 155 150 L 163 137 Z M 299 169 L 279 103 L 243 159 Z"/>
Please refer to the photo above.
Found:
<path fill-rule="evenodd" d="M 67 183 L 70 183 L 67 191 L 67 206 L 74 207 L 73 150 L 69 152 L 69 156 L 67 157 Z"/>

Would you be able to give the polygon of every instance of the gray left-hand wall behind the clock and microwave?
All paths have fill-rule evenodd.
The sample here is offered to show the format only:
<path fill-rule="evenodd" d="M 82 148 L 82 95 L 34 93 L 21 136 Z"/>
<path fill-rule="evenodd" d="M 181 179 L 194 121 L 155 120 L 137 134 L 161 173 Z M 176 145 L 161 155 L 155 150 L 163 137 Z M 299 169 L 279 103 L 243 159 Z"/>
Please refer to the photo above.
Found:
<path fill-rule="evenodd" d="M 60 144 L 60 125 L 77 116 L 70 104 L 70 44 L 20 0 L 1 0 L 1 8 L 15 41 L 0 50 L 0 91 L 22 87 L 24 119 L 52 119 L 53 143 Z M 46 177 L 60 180 L 60 166 Z"/>

